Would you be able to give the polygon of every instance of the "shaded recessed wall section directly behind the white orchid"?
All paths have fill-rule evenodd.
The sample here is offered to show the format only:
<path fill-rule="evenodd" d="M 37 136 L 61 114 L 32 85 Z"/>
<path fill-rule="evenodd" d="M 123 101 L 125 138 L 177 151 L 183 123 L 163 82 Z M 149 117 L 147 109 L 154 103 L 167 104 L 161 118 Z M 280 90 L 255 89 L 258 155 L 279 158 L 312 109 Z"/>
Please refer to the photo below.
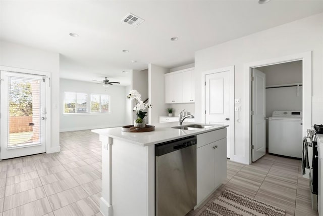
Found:
<path fill-rule="evenodd" d="M 148 98 L 148 69 L 132 71 L 132 88 L 141 94 L 141 100 L 145 101 Z M 148 103 L 148 102 L 146 102 Z M 132 103 L 132 108 L 135 106 L 135 101 Z M 147 112 L 147 110 L 145 110 Z M 133 119 L 137 118 L 136 112 L 133 113 Z M 147 118 L 147 117 L 146 117 Z"/>

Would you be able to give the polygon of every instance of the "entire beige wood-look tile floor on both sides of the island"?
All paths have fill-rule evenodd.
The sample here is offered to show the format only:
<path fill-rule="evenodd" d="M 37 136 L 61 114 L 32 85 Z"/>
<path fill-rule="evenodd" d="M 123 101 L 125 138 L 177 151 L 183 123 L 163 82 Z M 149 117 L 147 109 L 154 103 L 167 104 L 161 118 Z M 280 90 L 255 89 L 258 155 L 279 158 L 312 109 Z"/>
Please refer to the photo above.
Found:
<path fill-rule="evenodd" d="M 101 215 L 101 145 L 90 131 L 61 133 L 61 152 L 0 161 L 0 216 Z M 265 155 L 244 165 L 228 161 L 224 184 L 188 215 L 199 215 L 225 189 L 286 210 L 317 215 L 310 209 L 308 181 L 300 162 Z"/>

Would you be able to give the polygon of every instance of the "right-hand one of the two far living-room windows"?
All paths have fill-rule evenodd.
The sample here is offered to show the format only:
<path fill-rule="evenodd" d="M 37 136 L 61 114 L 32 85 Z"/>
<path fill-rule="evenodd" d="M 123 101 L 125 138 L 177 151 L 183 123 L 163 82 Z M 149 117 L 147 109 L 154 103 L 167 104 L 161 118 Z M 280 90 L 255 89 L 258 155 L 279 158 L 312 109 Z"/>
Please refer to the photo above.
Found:
<path fill-rule="evenodd" d="M 91 112 L 107 113 L 110 112 L 110 96 L 103 94 L 91 94 Z"/>

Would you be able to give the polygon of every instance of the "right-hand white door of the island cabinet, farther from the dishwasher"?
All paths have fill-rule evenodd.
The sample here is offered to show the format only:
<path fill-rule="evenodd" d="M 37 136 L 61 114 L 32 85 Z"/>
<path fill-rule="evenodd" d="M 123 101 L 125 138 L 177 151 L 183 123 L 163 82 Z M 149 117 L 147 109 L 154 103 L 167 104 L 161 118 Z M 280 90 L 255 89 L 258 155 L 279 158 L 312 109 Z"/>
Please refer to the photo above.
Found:
<path fill-rule="evenodd" d="M 227 179 L 227 138 L 218 140 L 214 148 L 214 189 Z"/>

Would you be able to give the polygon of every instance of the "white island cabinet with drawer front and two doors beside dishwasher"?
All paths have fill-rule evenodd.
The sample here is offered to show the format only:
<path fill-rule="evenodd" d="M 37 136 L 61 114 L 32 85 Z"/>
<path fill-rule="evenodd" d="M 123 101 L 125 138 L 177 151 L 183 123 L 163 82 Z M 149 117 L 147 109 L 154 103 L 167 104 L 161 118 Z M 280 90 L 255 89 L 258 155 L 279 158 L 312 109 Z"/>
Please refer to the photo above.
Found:
<path fill-rule="evenodd" d="M 197 135 L 197 206 L 227 178 L 227 138 L 223 137 L 226 128 L 221 130 L 218 132 L 221 136 L 212 136 L 217 141 L 208 144 L 199 143 L 199 140 L 206 140 L 204 138 L 208 133 L 202 134 L 200 139 Z"/>

